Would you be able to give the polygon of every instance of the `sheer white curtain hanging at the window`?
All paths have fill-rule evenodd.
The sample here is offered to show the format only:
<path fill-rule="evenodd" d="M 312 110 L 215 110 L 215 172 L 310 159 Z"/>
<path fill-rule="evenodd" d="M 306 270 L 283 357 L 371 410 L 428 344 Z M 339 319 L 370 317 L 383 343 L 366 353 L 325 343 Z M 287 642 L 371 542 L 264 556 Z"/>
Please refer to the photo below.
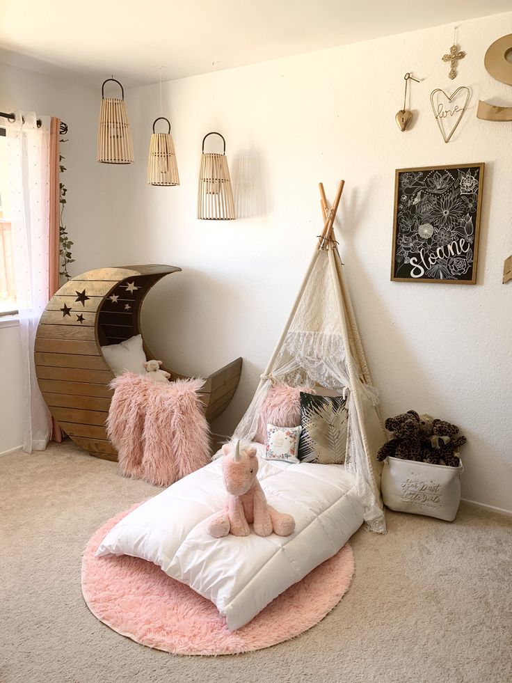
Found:
<path fill-rule="evenodd" d="M 35 333 L 48 303 L 50 119 L 42 117 L 38 128 L 35 113 L 16 111 L 15 116 L 13 123 L 6 123 L 6 143 L 22 338 L 23 449 L 31 453 L 46 448 L 51 428 L 34 363 Z"/>

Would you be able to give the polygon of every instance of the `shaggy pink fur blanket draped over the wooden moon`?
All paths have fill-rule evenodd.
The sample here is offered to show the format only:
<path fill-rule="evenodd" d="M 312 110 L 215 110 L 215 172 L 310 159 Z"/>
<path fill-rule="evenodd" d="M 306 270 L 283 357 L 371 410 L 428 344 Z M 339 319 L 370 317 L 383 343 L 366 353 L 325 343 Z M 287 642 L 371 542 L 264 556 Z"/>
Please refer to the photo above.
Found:
<path fill-rule="evenodd" d="M 111 382 L 106 431 L 125 477 L 170 486 L 207 464 L 209 427 L 198 394 L 203 384 L 152 382 L 133 372 Z"/>

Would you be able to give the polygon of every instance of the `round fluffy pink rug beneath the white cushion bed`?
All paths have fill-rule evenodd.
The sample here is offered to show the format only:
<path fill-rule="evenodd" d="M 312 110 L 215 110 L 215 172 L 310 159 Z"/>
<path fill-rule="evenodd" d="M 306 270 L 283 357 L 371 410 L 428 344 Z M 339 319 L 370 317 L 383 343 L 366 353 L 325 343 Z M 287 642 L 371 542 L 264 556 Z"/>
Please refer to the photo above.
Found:
<path fill-rule="evenodd" d="M 249 624 L 231 633 L 212 602 L 170 579 L 157 565 L 128 556 L 95 557 L 106 533 L 131 510 L 110 519 L 90 539 L 83 554 L 81 584 L 95 617 L 141 645 L 173 654 L 261 650 L 310 629 L 349 589 L 354 560 L 346 544 Z"/>

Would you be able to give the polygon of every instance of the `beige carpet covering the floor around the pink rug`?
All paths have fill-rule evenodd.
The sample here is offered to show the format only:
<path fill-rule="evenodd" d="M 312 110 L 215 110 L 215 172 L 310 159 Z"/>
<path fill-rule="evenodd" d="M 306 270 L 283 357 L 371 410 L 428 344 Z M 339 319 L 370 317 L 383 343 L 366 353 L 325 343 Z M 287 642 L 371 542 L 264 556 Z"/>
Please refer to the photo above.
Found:
<path fill-rule="evenodd" d="M 512 681 L 511 519 L 463 505 L 453 524 L 388 512 L 358 531 L 342 602 L 294 641 L 176 657 L 88 611 L 81 553 L 115 512 L 158 489 L 72 443 L 0 457 L 1 683 Z"/>

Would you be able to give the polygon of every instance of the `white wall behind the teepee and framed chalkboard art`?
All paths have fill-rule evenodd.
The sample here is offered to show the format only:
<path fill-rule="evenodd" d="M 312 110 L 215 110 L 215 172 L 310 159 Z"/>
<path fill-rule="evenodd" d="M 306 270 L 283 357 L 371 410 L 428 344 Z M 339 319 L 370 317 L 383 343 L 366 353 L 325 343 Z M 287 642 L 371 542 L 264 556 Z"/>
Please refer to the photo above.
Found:
<path fill-rule="evenodd" d="M 511 31 L 512 13 L 464 22 L 467 52 L 456 81 L 441 61 L 453 26 L 417 31 L 164 84 L 181 187 L 145 185 L 158 87 L 127 93 L 136 164 L 109 169 L 113 214 L 125 240 L 120 260 L 166 262 L 184 272 L 149 295 L 150 346 L 173 369 L 205 375 L 244 358 L 229 430 L 248 405 L 298 290 L 321 220 L 317 182 L 332 199 L 346 189 L 339 238 L 355 311 L 383 414 L 410 408 L 467 434 L 463 495 L 512 508 L 511 286 L 512 127 L 477 120 L 479 97 L 512 105 L 512 88 L 483 67 L 491 42 Z M 394 121 L 411 88 L 415 124 Z M 430 109 L 433 88 L 472 88 L 470 107 L 445 144 Z M 227 140 L 240 219 L 195 219 L 202 136 Z M 486 162 L 479 276 L 475 286 L 390 282 L 394 170 Z"/>

